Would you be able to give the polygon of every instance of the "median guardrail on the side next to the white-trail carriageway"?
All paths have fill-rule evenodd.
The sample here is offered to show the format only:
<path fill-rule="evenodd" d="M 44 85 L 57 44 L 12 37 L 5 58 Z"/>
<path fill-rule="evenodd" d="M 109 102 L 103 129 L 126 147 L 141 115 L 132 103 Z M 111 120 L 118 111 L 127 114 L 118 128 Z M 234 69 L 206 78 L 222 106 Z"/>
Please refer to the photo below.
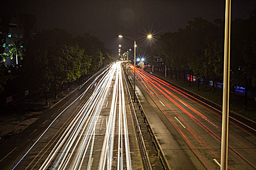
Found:
<path fill-rule="evenodd" d="M 149 155 L 148 155 L 148 152 L 147 152 L 147 148 L 146 148 L 146 145 L 145 145 L 145 142 L 144 142 L 141 130 L 140 130 L 140 126 L 139 126 L 139 123 L 138 123 L 138 118 L 137 118 L 136 111 L 135 111 L 135 108 L 134 108 L 134 105 L 133 105 L 133 101 L 132 101 L 132 97 L 131 97 L 131 94 L 130 94 L 130 91 L 129 91 L 129 87 L 128 87 L 128 84 L 127 84 L 127 81 L 126 81 L 125 77 L 124 77 L 124 79 L 125 79 L 125 84 L 126 84 L 126 87 L 127 87 L 129 103 L 130 103 L 130 106 L 132 108 L 133 119 L 135 120 L 135 125 L 136 125 L 136 129 L 137 129 L 137 132 L 138 132 L 139 140 L 140 140 L 140 143 L 142 145 L 143 153 L 146 157 L 146 160 L 145 160 L 146 165 L 147 165 L 148 170 L 153 170 L 152 166 L 151 166 L 151 163 L 150 163 L 150 160 L 149 160 Z"/>

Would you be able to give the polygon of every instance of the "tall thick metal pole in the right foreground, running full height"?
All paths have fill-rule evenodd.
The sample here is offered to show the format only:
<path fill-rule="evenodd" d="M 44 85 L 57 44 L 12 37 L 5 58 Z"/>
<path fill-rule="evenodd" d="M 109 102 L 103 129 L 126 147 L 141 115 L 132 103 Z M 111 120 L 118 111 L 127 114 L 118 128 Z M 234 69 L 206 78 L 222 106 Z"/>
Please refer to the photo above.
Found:
<path fill-rule="evenodd" d="M 228 168 L 228 119 L 229 119 L 229 72 L 230 72 L 230 24 L 231 0 L 226 0 L 225 40 L 224 40 L 224 72 L 223 72 L 223 105 L 220 170 Z"/>

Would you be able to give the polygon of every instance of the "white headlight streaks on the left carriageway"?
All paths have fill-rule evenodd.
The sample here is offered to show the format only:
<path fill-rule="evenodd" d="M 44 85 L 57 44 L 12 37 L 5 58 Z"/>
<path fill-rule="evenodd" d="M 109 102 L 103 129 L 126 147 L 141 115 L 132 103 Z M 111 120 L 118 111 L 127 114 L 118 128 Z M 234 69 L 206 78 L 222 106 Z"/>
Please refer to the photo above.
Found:
<path fill-rule="evenodd" d="M 107 124 L 101 156 L 98 158 L 98 169 L 113 169 L 113 157 L 116 156 L 118 156 L 118 170 L 132 169 L 122 74 L 121 62 L 112 63 L 108 67 L 101 69 L 97 74 L 85 82 L 81 86 L 83 87 L 86 85 L 86 83 L 88 83 L 84 89 L 80 87 L 80 89 L 84 90 L 84 92 L 82 92 L 74 102 L 76 102 L 78 99 L 82 100 L 83 97 L 86 97 L 85 93 L 89 89 L 92 89 L 90 97 L 82 102 L 81 107 L 79 107 L 74 117 L 70 119 L 70 122 L 66 128 L 63 129 L 59 136 L 56 136 L 55 140 L 53 140 L 53 143 L 48 147 L 48 149 L 51 147 L 50 152 L 47 153 L 47 149 L 36 162 L 36 164 L 40 164 L 35 164 L 33 168 L 39 167 L 39 170 L 80 170 L 82 167 L 87 167 L 87 170 L 91 169 L 93 160 L 95 160 L 93 158 L 93 151 L 94 144 L 96 142 L 96 127 L 99 126 L 97 123 L 101 123 L 101 130 L 103 120 L 98 121 L 101 109 L 103 104 L 106 102 L 106 97 L 112 92 L 111 108 L 109 116 L 106 117 Z M 112 89 L 111 87 L 113 81 L 114 86 Z M 74 102 L 66 107 L 56 119 L 58 119 L 59 116 Z M 108 101 L 106 102 L 106 106 L 104 106 L 107 107 L 107 105 Z M 53 120 L 50 126 L 56 121 L 56 119 Z M 118 138 L 115 138 L 116 124 L 118 124 Z M 41 136 L 39 136 L 38 140 L 32 145 L 27 153 L 29 153 L 30 150 L 37 144 L 50 126 L 48 126 Z M 114 155 L 114 149 L 116 147 L 114 147 L 114 143 L 118 143 L 117 155 Z M 45 148 L 46 146 L 43 148 L 43 150 Z M 123 154 L 123 150 L 125 154 Z M 40 153 L 41 152 L 42 151 L 40 151 Z M 19 165 L 27 153 L 22 156 L 20 161 L 13 169 Z M 35 159 L 36 158 L 34 158 L 32 162 L 34 162 Z M 32 162 L 29 164 L 29 166 L 32 165 Z M 124 165 L 123 162 L 126 162 L 126 165 Z M 95 161 L 94 163 L 97 164 Z"/>

